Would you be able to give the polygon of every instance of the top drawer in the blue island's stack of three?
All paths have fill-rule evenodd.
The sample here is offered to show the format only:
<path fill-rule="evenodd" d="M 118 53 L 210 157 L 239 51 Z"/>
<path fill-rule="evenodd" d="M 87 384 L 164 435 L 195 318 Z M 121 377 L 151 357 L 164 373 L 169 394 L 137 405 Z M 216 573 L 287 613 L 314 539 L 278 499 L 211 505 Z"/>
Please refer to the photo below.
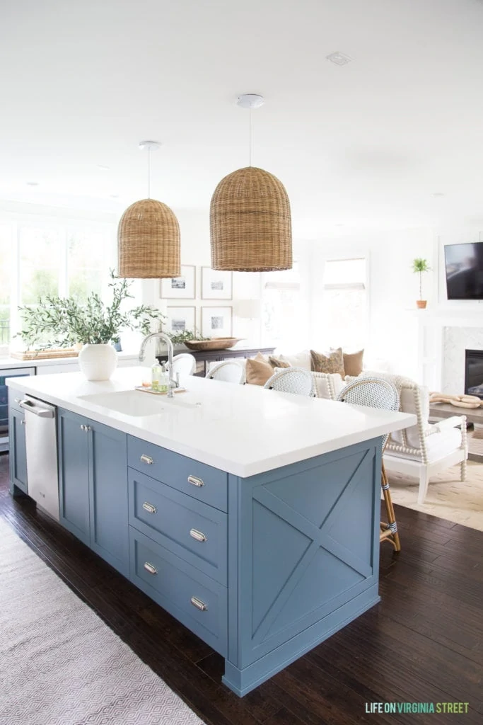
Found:
<path fill-rule="evenodd" d="M 198 501 L 227 511 L 228 474 L 218 468 L 134 436 L 127 436 L 127 465 Z"/>

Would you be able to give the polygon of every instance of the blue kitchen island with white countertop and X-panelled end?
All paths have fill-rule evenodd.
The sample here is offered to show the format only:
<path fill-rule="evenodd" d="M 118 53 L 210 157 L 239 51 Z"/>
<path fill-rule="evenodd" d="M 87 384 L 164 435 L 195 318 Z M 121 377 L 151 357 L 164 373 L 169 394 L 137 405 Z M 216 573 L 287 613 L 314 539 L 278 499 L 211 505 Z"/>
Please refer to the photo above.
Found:
<path fill-rule="evenodd" d="M 12 493 L 28 395 L 57 406 L 60 523 L 243 696 L 379 601 L 380 440 L 413 416 L 201 378 L 169 401 L 141 376 L 12 378 Z"/>

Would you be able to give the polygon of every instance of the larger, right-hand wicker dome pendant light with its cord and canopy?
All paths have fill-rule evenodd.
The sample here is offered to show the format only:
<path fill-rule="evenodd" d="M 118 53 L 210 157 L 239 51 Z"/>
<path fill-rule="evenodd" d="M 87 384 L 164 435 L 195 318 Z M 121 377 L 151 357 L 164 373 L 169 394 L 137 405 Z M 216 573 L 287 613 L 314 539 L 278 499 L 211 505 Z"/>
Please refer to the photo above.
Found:
<path fill-rule="evenodd" d="M 262 103 L 261 96 L 255 94 L 238 99 L 238 105 L 248 109 Z M 215 270 L 267 272 L 292 268 L 287 191 L 277 177 L 264 169 L 250 165 L 219 182 L 211 198 L 210 234 L 211 267 Z"/>

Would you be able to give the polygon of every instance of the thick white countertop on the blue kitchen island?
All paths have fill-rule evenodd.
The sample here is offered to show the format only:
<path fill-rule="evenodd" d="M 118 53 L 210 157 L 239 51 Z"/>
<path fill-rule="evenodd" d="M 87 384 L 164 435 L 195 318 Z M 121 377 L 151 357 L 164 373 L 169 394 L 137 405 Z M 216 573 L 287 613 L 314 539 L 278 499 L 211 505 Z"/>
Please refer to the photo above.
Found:
<path fill-rule="evenodd" d="M 175 394 L 171 405 L 164 396 L 138 392 L 159 403 L 154 415 L 134 417 L 80 399 L 133 390 L 143 373 L 145 368 L 118 368 L 103 382 L 89 382 L 82 373 L 59 373 L 8 378 L 7 385 L 243 478 L 416 423 L 408 413 L 193 376 L 181 378 L 186 392 Z"/>

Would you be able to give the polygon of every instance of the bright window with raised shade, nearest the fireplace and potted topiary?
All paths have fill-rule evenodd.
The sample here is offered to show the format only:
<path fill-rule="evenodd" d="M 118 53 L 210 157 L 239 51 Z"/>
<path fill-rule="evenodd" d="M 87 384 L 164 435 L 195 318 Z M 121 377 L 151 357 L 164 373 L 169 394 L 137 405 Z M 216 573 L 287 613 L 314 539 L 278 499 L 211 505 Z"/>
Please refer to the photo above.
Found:
<path fill-rule="evenodd" d="M 361 349 L 366 345 L 366 260 L 327 260 L 322 282 L 324 339 L 332 347 Z"/>

